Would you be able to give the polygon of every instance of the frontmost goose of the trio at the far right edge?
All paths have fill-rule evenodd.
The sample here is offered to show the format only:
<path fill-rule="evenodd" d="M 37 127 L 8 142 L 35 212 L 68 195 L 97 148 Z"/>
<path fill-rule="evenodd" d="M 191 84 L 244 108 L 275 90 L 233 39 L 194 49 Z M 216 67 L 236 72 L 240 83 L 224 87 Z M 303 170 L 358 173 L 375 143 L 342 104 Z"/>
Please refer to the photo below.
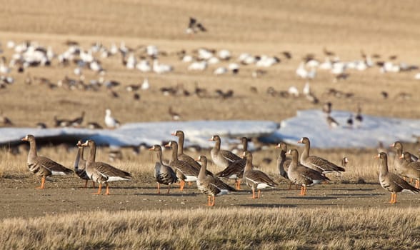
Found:
<path fill-rule="evenodd" d="M 381 152 L 375 156 L 376 159 L 380 160 L 379 165 L 379 183 L 381 186 L 391 192 L 391 200 L 389 203 L 396 203 L 396 193 L 401 191 L 409 191 L 411 194 L 419 193 L 420 189 L 416 189 L 406 181 L 401 179 L 396 174 L 388 171 L 388 156 L 384 152 Z"/>

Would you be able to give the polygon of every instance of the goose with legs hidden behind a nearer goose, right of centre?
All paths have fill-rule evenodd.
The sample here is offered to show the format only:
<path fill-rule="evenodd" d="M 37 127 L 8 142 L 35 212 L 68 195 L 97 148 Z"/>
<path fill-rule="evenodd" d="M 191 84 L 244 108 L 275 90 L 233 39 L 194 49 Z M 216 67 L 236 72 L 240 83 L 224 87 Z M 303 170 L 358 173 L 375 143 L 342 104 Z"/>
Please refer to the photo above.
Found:
<path fill-rule="evenodd" d="M 346 169 L 343 169 L 341 166 L 337 166 L 331 161 L 327 161 L 319 156 L 310 156 L 309 150 L 311 149 L 311 141 L 309 141 L 308 137 L 302 137 L 300 141 L 298 141 L 298 144 L 305 144 L 305 149 L 301 154 L 301 164 L 309 167 L 309 169 L 319 171 L 321 174 L 331 173 L 334 171 L 346 171 Z"/>

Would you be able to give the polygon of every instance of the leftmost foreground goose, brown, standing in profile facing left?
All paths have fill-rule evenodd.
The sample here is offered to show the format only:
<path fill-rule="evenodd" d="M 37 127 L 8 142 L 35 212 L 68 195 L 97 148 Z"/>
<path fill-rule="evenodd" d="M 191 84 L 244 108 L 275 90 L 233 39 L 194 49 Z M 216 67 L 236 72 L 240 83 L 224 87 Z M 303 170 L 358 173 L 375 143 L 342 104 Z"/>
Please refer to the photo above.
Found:
<path fill-rule="evenodd" d="M 36 189 L 45 188 L 45 178 L 51 175 L 69 175 L 73 174 L 73 170 L 67 169 L 65 166 L 56 163 L 47 157 L 38 156 L 36 154 L 35 136 L 27 134 L 21 141 L 29 141 L 28 166 L 29 171 L 41 176 L 41 186 Z"/>

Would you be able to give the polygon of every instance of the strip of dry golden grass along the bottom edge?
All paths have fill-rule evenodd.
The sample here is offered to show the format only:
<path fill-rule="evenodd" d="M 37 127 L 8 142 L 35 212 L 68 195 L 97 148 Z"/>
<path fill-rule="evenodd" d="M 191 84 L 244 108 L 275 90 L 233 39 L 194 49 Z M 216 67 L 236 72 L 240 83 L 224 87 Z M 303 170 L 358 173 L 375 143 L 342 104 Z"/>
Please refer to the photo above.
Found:
<path fill-rule="evenodd" d="M 345 219 L 344 219 L 345 218 Z M 103 211 L 5 219 L 4 249 L 417 249 L 419 209 Z"/>

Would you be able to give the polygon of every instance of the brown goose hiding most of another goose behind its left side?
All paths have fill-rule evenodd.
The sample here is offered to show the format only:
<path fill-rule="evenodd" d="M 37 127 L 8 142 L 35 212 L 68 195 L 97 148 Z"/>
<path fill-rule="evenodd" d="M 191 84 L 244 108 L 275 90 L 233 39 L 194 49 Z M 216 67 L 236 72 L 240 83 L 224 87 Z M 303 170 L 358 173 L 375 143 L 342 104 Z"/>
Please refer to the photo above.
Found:
<path fill-rule="evenodd" d="M 116 167 L 106 164 L 101 161 L 95 161 L 96 158 L 96 143 L 93 140 L 87 140 L 81 146 L 89 147 L 89 155 L 86 159 L 86 174 L 92 181 L 99 183 L 97 193 L 101 194 L 102 185 L 106 184 L 106 195 L 109 195 L 109 181 L 129 181 L 131 174 L 116 169 Z"/>

